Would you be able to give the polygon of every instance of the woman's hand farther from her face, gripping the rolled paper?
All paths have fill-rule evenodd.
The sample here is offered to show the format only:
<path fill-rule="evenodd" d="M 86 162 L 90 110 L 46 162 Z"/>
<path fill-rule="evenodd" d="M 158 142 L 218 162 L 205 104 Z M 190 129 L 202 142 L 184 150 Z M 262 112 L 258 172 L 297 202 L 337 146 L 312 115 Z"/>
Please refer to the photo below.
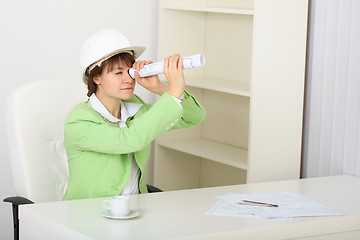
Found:
<path fill-rule="evenodd" d="M 167 93 L 179 98 L 185 90 L 183 59 L 179 54 L 174 54 L 164 60 L 164 74 L 168 81 Z"/>

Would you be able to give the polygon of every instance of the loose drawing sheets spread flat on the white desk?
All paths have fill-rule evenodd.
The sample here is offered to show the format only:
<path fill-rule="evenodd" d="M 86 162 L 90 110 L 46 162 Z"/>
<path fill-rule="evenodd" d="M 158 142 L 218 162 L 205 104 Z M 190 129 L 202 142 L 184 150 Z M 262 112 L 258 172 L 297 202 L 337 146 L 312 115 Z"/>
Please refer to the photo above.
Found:
<path fill-rule="evenodd" d="M 299 193 L 227 193 L 226 195 L 216 197 L 219 198 L 220 201 L 206 212 L 207 215 L 260 217 L 264 219 L 291 219 L 293 217 L 341 215 Z M 260 207 L 237 204 L 244 199 L 277 204 L 279 207 Z"/>

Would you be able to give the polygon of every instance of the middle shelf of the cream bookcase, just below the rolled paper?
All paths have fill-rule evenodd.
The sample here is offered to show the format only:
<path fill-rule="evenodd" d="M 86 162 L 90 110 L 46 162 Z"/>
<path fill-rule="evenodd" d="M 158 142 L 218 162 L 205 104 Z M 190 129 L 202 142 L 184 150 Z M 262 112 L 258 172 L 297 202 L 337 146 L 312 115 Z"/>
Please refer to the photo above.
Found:
<path fill-rule="evenodd" d="M 166 82 L 162 76 L 161 81 Z M 250 97 L 250 83 L 214 77 L 185 77 L 186 86 Z"/>

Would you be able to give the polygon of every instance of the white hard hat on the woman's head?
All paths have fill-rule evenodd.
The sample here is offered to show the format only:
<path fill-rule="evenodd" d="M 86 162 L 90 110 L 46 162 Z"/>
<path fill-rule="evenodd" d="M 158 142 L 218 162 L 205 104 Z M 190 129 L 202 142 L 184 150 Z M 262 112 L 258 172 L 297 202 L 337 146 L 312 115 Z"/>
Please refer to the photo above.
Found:
<path fill-rule="evenodd" d="M 144 51 L 145 47 L 132 46 L 129 39 L 121 32 L 106 28 L 89 37 L 81 47 L 80 64 L 82 79 L 87 84 L 87 69 L 93 64 L 101 64 L 108 58 L 126 51 L 133 51 L 135 59 Z"/>

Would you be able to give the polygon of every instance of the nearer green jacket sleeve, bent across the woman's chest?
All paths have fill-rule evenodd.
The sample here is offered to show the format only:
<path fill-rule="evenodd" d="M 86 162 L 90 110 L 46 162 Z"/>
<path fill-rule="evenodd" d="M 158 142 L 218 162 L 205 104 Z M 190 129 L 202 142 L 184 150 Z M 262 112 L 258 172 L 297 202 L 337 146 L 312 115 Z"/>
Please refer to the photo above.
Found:
<path fill-rule="evenodd" d="M 131 126 L 119 128 L 94 114 L 86 104 L 77 105 L 65 123 L 67 149 L 87 150 L 109 154 L 136 152 L 150 144 L 183 111 L 167 93 L 150 108 L 144 105 L 135 114 Z"/>

